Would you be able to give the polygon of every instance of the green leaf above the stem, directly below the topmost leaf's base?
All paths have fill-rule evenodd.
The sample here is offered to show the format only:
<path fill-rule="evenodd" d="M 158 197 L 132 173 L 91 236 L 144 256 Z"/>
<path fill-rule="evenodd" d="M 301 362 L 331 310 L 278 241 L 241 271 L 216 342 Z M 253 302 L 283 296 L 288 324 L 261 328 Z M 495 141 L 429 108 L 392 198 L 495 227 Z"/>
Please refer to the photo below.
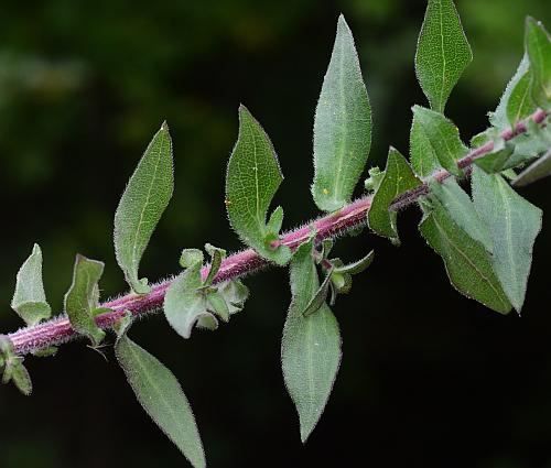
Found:
<path fill-rule="evenodd" d="M 413 106 L 413 119 L 422 127 L 426 140 L 440 165 L 455 176 L 461 176 L 457 160 L 467 154 L 468 149 L 460 139 L 457 127 L 442 113 L 424 107 Z"/>

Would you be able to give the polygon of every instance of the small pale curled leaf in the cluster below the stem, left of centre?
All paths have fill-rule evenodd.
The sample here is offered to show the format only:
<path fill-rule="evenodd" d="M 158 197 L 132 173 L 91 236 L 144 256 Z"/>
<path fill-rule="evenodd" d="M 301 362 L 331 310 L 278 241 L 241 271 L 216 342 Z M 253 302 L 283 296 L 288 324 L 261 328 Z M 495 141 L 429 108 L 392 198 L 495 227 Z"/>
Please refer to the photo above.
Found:
<path fill-rule="evenodd" d="M 207 311 L 201 279 L 202 261 L 197 261 L 181 273 L 164 295 L 164 316 L 169 324 L 184 338 L 190 338 L 195 325 L 214 329 L 217 320 Z"/>

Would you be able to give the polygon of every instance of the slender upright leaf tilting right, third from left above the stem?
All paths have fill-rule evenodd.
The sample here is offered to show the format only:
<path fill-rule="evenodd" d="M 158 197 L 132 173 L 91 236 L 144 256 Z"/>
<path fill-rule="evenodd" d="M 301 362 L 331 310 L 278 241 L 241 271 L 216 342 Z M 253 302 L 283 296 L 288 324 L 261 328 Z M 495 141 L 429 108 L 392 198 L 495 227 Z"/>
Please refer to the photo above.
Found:
<path fill-rule="evenodd" d="M 172 141 L 166 122 L 154 134 L 130 177 L 115 214 L 115 253 L 130 287 L 150 291 L 138 268 L 174 188 Z"/>

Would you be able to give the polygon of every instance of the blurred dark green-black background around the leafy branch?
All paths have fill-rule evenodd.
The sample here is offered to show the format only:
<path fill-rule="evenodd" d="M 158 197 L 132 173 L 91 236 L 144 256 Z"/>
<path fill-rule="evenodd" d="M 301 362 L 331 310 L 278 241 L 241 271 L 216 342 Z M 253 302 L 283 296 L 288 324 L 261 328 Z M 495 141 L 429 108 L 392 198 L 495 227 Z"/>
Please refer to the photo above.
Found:
<path fill-rule="evenodd" d="M 446 113 L 462 135 L 486 126 L 522 54 L 527 13 L 551 25 L 547 0 L 460 0 L 474 63 Z M 225 214 L 224 174 L 246 104 L 269 132 L 285 181 L 285 227 L 317 216 L 312 124 L 345 13 L 374 109 L 371 164 L 408 152 L 410 107 L 425 104 L 413 72 L 424 1 L 292 0 L 0 2 L 0 329 L 15 272 L 32 243 L 60 309 L 74 255 L 106 261 L 105 296 L 126 290 L 114 255 L 112 215 L 163 119 L 175 146 L 176 191 L 141 272 L 177 272 L 184 247 L 239 248 Z M 547 181 L 549 184 L 549 181 Z M 522 194 L 547 213 L 549 185 Z M 213 467 L 551 467 L 551 221 L 544 217 L 522 317 L 457 294 L 417 232 L 403 246 L 365 232 L 337 253 L 376 248 L 372 268 L 334 307 L 344 360 L 306 446 L 282 383 L 284 270 L 247 280 L 242 314 L 183 341 L 162 316 L 132 338 L 166 363 L 188 395 Z M 0 389 L 0 466 L 186 466 L 136 403 L 117 367 L 83 342 L 29 358 L 34 392 Z"/>

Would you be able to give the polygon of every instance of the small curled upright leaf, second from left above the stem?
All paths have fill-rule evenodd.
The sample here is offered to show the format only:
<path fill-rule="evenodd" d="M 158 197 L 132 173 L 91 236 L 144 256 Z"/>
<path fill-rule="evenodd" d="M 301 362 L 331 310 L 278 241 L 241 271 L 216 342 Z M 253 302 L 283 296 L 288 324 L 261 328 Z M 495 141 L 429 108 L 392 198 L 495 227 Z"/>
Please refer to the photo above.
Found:
<path fill-rule="evenodd" d="M 65 294 L 64 307 L 71 326 L 79 334 L 87 336 L 94 346 L 105 338 L 105 331 L 96 322 L 95 309 L 98 307 L 96 290 L 104 274 L 104 263 L 76 255 L 73 270 L 73 284 Z"/>

